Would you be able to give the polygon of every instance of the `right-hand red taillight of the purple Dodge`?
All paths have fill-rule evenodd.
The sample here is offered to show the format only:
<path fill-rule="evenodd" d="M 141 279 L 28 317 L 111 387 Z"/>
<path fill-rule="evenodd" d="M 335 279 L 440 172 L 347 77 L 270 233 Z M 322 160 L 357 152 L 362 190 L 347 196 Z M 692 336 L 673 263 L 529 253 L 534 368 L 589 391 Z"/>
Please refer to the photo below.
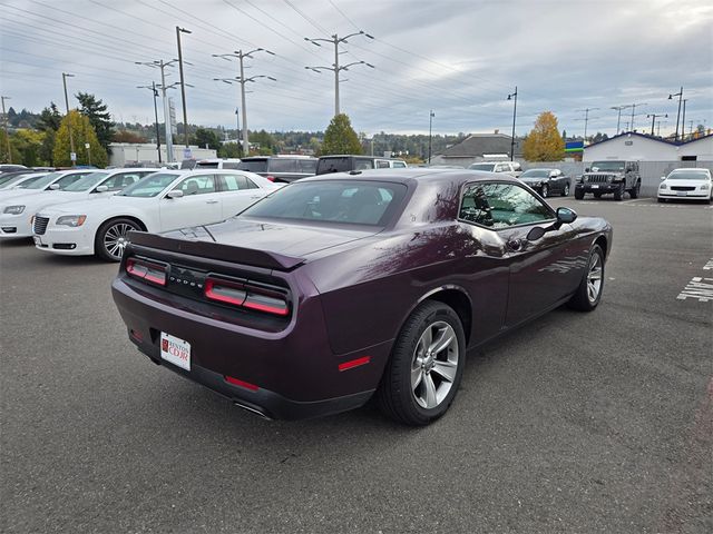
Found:
<path fill-rule="evenodd" d="M 257 286 L 250 281 L 238 283 L 208 277 L 205 280 L 204 295 L 209 300 L 281 317 L 290 314 L 290 305 L 283 291 Z"/>

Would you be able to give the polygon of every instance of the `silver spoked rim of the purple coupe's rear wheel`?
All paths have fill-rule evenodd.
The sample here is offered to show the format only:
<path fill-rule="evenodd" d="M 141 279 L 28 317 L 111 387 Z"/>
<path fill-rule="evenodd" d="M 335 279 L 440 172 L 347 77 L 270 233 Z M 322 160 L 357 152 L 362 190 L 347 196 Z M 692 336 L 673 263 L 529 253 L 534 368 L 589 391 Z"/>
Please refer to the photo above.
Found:
<path fill-rule="evenodd" d="M 439 406 L 453 387 L 458 372 L 458 337 L 448 323 L 429 325 L 413 350 L 411 393 L 419 406 Z"/>

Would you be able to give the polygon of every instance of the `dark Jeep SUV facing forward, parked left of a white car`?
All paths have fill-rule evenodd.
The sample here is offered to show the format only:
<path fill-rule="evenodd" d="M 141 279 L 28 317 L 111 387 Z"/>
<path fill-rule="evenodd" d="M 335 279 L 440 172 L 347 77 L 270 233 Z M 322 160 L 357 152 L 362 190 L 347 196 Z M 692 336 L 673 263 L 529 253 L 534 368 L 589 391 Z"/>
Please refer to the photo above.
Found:
<path fill-rule="evenodd" d="M 592 161 L 584 175 L 577 178 L 575 198 L 582 200 L 587 192 L 592 192 L 595 198 L 613 192 L 614 200 L 621 200 L 624 192 L 636 198 L 641 188 L 638 161 Z"/>

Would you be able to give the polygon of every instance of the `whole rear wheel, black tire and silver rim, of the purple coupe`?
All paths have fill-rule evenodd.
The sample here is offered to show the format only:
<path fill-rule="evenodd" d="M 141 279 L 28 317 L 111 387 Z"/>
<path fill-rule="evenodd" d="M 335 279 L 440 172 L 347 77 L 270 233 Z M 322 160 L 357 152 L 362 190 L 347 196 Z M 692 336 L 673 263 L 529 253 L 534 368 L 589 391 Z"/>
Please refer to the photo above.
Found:
<path fill-rule="evenodd" d="M 434 332 L 437 335 L 442 333 L 441 344 L 439 337 L 433 338 Z M 445 348 L 434 354 L 428 352 L 429 347 L 438 348 L 449 338 Z M 443 415 L 453 402 L 465 365 L 466 336 L 458 314 L 442 303 L 422 303 L 409 316 L 393 345 L 375 394 L 379 408 L 399 423 L 428 425 Z M 441 373 L 447 373 L 451 379 Z M 412 380 L 417 380 L 416 385 Z M 429 400 L 436 404 L 429 407 Z"/>

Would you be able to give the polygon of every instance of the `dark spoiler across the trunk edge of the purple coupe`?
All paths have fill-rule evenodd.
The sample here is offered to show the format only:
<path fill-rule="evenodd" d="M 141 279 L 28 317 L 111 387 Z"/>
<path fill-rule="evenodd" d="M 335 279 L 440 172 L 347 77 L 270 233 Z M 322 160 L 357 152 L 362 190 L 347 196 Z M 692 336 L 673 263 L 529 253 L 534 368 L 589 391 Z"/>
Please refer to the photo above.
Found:
<path fill-rule="evenodd" d="M 234 247 L 211 241 L 175 239 L 156 234 L 148 234 L 146 231 L 130 231 L 128 239 L 131 245 L 167 250 L 169 253 L 188 254 L 222 261 L 233 261 L 266 269 L 290 270 L 305 261 L 304 258 L 284 256 L 267 250 L 255 250 L 253 248 Z"/>

